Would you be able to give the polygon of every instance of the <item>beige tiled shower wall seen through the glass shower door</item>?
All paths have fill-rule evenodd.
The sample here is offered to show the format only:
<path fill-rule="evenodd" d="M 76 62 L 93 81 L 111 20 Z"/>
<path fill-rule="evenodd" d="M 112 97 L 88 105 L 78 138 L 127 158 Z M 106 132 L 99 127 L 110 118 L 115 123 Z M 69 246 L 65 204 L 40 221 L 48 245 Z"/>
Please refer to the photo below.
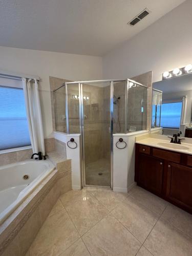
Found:
<path fill-rule="evenodd" d="M 86 163 L 110 155 L 110 86 L 83 84 L 84 149 Z"/>

